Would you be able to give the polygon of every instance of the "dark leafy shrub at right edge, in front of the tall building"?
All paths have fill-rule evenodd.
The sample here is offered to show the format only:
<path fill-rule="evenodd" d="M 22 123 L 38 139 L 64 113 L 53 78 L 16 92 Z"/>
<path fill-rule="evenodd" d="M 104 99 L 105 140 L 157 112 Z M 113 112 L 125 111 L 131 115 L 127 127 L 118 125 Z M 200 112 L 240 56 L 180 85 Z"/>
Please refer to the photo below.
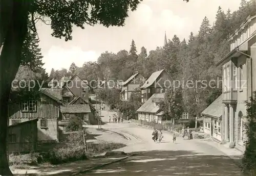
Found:
<path fill-rule="evenodd" d="M 250 97 L 250 101 L 246 101 L 247 106 L 247 122 L 245 123 L 246 141 L 245 152 L 242 158 L 243 171 L 246 175 L 256 175 L 256 91 Z"/>

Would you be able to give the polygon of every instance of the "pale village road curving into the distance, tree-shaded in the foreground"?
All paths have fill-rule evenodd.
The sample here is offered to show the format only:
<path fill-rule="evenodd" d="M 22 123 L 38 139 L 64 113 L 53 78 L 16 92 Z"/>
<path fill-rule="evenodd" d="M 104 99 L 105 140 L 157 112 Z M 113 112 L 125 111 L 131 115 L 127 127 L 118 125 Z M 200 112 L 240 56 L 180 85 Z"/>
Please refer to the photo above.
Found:
<path fill-rule="evenodd" d="M 80 175 L 242 175 L 238 166 L 220 150 L 206 143 L 200 143 L 199 140 L 183 140 L 177 137 L 177 142 L 173 143 L 172 135 L 164 133 L 163 142 L 154 143 L 151 139 L 152 129 L 140 128 L 128 123 L 108 124 L 103 125 L 103 128 L 140 139 L 137 145 L 123 149 L 124 152 L 134 151 L 139 154 Z"/>

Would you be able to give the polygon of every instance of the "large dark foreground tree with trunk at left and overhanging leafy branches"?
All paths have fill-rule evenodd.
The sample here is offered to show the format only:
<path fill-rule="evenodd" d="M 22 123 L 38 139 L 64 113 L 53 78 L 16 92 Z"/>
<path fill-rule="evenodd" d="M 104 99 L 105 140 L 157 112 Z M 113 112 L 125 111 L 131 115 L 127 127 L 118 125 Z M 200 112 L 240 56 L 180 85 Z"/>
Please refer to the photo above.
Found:
<path fill-rule="evenodd" d="M 32 31 L 36 32 L 35 20 L 51 19 L 52 36 L 72 39 L 72 26 L 84 29 L 84 24 L 96 23 L 104 27 L 123 26 L 128 11 L 136 10 L 140 0 L 117 3 L 111 1 L 1 1 L 0 27 L 0 174 L 12 175 L 7 162 L 7 110 L 11 82 L 15 78 L 20 63 L 23 43 L 28 32 L 28 19 L 32 22 Z M 89 10 L 89 7 L 90 10 Z M 45 21 L 44 21 L 45 22 Z"/>

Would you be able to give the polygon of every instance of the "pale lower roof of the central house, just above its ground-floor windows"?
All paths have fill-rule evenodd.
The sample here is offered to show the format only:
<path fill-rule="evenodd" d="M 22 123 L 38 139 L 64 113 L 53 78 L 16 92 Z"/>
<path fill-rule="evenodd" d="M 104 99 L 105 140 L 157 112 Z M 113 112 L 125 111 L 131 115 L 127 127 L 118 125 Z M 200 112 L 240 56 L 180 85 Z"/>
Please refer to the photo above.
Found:
<path fill-rule="evenodd" d="M 160 110 L 159 103 L 164 99 L 165 93 L 154 93 L 138 110 L 137 112 L 156 113 Z"/>

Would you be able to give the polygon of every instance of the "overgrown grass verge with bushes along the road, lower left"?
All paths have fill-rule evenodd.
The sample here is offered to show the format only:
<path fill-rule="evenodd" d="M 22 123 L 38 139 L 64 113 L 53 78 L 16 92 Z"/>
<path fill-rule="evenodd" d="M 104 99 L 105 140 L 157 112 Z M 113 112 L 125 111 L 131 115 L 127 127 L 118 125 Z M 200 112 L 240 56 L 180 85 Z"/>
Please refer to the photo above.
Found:
<path fill-rule="evenodd" d="M 59 145 L 49 151 L 30 154 L 11 154 L 9 156 L 9 165 L 15 168 L 26 168 L 27 166 L 36 166 L 39 164 L 55 165 L 68 163 L 86 160 L 124 146 L 126 145 L 114 142 L 88 143 L 86 151 L 82 134 L 72 133 L 63 145 Z"/>

